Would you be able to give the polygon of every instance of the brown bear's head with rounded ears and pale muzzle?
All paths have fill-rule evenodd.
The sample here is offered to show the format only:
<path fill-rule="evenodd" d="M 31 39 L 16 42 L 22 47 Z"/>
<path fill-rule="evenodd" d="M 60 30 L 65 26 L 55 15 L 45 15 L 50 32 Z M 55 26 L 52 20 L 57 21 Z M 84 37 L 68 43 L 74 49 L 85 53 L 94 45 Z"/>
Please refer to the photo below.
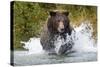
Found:
<path fill-rule="evenodd" d="M 69 12 L 50 11 L 47 28 L 50 33 L 70 33 Z"/>

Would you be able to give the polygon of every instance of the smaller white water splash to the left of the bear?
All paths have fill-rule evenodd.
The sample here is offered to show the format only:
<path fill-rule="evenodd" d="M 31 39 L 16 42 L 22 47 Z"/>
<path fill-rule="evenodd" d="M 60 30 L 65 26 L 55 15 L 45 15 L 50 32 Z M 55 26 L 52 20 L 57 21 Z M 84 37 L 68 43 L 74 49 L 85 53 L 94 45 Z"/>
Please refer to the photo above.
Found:
<path fill-rule="evenodd" d="M 43 53 L 40 38 L 30 38 L 28 42 L 21 41 L 21 43 L 25 44 L 23 47 L 28 49 L 28 54 Z"/>

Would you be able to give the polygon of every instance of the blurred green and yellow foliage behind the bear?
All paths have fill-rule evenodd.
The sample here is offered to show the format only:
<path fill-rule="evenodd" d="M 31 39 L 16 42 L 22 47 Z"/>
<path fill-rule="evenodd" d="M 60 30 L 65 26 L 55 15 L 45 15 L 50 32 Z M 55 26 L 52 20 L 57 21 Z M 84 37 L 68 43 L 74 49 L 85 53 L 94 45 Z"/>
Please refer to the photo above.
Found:
<path fill-rule="evenodd" d="M 13 9 L 13 41 L 14 49 L 22 49 L 20 41 L 28 41 L 31 37 L 39 37 L 46 24 L 51 10 L 67 10 L 72 25 L 79 26 L 81 22 L 89 20 L 93 26 L 93 38 L 97 39 L 97 7 L 35 3 L 15 1 Z"/>

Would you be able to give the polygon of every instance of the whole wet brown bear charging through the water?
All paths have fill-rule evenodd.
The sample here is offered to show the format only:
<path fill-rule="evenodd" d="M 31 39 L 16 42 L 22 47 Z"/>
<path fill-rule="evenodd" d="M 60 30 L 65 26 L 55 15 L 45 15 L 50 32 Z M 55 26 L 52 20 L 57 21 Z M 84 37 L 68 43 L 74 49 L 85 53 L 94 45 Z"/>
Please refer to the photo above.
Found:
<path fill-rule="evenodd" d="M 50 17 L 47 21 L 47 27 L 44 29 L 40 42 L 43 50 L 49 53 L 56 53 L 56 44 L 58 37 L 63 41 L 66 41 L 67 34 L 70 36 L 73 28 L 70 26 L 70 20 L 68 18 L 69 12 L 67 11 L 50 11 Z M 73 44 L 65 43 L 60 46 L 57 53 L 65 54 L 67 50 L 72 48 Z"/>

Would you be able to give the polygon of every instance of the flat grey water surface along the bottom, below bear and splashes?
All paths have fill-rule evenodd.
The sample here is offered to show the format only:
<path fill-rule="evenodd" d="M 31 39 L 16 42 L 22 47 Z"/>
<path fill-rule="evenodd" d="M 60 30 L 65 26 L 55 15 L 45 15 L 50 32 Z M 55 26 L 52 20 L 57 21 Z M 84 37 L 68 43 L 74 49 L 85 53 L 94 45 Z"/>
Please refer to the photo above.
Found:
<path fill-rule="evenodd" d="M 28 51 L 14 51 L 14 65 L 39 65 L 97 61 L 97 52 L 73 52 L 68 55 L 28 54 Z"/>

